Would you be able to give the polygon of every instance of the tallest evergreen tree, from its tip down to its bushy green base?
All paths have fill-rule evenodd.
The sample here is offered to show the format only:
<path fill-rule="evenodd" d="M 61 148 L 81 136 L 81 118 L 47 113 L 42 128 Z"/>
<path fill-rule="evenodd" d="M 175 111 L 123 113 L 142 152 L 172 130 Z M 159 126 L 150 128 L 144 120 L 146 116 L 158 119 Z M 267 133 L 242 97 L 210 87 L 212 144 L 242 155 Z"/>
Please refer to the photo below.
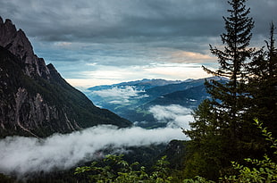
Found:
<path fill-rule="evenodd" d="M 218 166 L 214 171 L 226 167 L 231 159 L 239 158 L 239 140 L 243 135 L 241 126 L 246 110 L 246 66 L 254 53 L 254 49 L 248 48 L 254 21 L 248 17 L 250 9 L 246 8 L 246 0 L 231 0 L 228 3 L 231 5 L 228 10 L 230 16 L 223 17 L 226 32 L 221 35 L 224 48 L 210 46 L 211 53 L 218 58 L 219 69 L 211 71 L 204 67 L 204 70 L 229 80 L 206 81 L 211 99 L 199 105 L 194 113 L 195 122 L 190 123 L 191 129 L 184 131 L 192 139 L 192 144 L 201 145 L 192 152 L 202 152 L 202 158 L 210 160 L 210 166 L 212 163 Z M 216 173 L 208 174 L 214 176 Z"/>

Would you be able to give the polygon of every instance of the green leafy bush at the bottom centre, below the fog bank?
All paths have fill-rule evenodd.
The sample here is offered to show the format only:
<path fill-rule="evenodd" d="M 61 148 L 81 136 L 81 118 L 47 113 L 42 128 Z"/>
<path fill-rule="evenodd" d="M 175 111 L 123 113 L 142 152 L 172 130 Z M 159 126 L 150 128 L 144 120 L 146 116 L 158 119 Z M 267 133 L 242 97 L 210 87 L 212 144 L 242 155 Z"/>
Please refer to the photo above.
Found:
<path fill-rule="evenodd" d="M 155 164 L 152 174 L 148 174 L 144 166 L 139 162 L 129 163 L 122 159 L 123 155 L 109 154 L 105 156 L 103 166 L 97 166 L 92 162 L 90 166 L 78 167 L 75 174 L 89 172 L 88 178 L 91 182 L 97 183 L 170 183 L 172 177 L 168 174 L 166 156 L 162 157 Z"/>

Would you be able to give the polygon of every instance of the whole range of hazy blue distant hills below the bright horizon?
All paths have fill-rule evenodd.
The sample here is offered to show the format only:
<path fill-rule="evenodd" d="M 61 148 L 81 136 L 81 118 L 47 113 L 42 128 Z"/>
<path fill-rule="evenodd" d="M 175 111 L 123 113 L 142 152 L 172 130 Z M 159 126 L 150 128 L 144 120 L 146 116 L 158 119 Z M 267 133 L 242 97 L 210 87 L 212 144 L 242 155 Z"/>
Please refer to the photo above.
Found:
<path fill-rule="evenodd" d="M 142 79 L 114 84 L 110 86 L 89 87 L 85 94 L 102 108 L 130 121 L 145 121 L 145 128 L 157 127 L 155 118 L 149 109 L 156 105 L 177 104 L 194 109 L 209 97 L 204 86 L 205 80 L 222 79 L 188 79 L 185 81 L 166 81 L 163 79 Z M 146 123 L 145 123 L 146 124 Z"/>

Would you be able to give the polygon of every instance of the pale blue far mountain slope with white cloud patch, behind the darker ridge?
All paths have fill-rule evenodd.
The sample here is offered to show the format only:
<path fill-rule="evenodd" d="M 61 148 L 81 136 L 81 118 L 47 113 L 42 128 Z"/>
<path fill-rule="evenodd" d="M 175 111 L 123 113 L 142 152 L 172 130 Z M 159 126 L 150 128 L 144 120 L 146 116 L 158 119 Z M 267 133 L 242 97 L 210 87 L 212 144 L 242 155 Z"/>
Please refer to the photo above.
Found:
<path fill-rule="evenodd" d="M 147 89 L 180 82 L 180 80 L 141 79 L 113 85 L 88 87 L 83 92 L 98 106 L 121 115 L 122 108 L 133 110 L 134 107 L 147 103 L 150 98 L 147 95 Z"/>

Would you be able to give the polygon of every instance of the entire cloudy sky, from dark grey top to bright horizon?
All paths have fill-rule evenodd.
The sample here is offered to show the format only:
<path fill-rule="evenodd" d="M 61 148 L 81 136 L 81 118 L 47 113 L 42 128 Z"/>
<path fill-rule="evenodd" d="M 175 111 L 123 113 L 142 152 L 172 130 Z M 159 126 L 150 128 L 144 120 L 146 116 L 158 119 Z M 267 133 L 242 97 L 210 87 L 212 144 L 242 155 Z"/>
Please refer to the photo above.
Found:
<path fill-rule="evenodd" d="M 252 46 L 276 23 L 276 0 L 248 0 Z M 216 68 L 227 0 L 2 0 L 0 16 L 29 37 L 35 53 L 75 87 L 134 79 L 203 78 Z"/>

